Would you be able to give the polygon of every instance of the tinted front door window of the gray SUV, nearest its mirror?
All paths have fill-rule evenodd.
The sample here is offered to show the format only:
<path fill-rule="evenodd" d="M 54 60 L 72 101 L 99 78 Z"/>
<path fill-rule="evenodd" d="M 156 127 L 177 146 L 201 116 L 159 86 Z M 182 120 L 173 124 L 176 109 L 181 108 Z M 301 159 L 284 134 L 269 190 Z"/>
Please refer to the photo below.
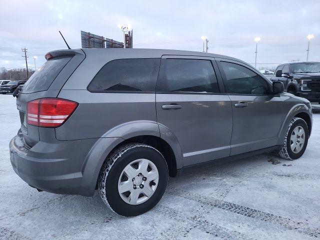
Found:
<path fill-rule="evenodd" d="M 231 62 L 221 61 L 221 65 L 227 93 L 269 94 L 267 82 L 254 71 Z"/>

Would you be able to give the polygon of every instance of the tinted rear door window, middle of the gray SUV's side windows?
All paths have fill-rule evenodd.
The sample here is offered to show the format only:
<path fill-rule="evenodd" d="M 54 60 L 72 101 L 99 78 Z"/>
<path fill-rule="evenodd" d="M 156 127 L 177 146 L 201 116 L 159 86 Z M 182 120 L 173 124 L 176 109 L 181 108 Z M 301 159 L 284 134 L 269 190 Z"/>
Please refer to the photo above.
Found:
<path fill-rule="evenodd" d="M 166 59 L 157 91 L 216 93 L 219 87 L 210 60 Z"/>

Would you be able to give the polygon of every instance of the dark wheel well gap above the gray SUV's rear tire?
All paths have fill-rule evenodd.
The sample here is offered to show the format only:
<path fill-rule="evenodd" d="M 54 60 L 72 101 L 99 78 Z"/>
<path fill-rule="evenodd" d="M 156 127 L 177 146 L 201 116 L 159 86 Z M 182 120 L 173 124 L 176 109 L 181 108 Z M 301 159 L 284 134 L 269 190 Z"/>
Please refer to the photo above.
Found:
<path fill-rule="evenodd" d="M 160 137 L 152 136 L 152 135 L 134 136 L 122 141 L 121 143 L 116 145 L 113 149 L 119 147 L 120 145 L 133 143 L 133 142 L 144 143 L 157 149 L 163 155 L 166 161 L 166 164 L 169 170 L 169 176 L 171 177 L 176 176 L 177 171 L 176 171 L 175 156 L 172 151 L 172 148 L 165 140 L 163 140 Z"/>

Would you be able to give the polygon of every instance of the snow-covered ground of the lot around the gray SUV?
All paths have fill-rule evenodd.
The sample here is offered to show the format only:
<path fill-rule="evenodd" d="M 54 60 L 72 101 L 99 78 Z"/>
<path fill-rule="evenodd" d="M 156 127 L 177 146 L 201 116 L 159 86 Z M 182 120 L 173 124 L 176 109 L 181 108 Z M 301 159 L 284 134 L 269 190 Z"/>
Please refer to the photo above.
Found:
<path fill-rule="evenodd" d="M 300 159 L 260 154 L 189 170 L 169 179 L 156 207 L 125 218 L 106 208 L 97 193 L 37 192 L 23 182 L 8 150 L 20 125 L 15 98 L 0 95 L 0 109 L 0 239 L 320 237 L 320 114 L 313 115 Z M 271 158 L 281 163 L 271 164 Z"/>

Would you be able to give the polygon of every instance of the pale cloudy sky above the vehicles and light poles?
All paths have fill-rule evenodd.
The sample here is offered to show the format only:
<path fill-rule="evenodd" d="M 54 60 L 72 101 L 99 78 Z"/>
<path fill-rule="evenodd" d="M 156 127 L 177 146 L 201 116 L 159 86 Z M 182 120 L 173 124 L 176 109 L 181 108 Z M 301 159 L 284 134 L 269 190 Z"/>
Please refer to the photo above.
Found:
<path fill-rule="evenodd" d="M 44 54 L 65 48 L 61 30 L 71 48 L 80 48 L 80 30 L 118 41 L 118 24 L 133 28 L 133 47 L 208 51 L 254 63 L 257 67 L 290 60 L 320 60 L 320 0 L 3 0 L 0 3 L 0 67 L 41 65 Z"/>

